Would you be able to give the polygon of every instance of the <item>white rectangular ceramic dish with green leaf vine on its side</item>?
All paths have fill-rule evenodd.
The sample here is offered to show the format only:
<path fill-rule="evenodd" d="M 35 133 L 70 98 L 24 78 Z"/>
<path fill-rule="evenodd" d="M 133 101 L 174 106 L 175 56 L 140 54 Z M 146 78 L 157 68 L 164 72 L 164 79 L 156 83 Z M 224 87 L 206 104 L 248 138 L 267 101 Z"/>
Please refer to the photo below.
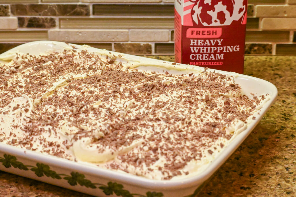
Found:
<path fill-rule="evenodd" d="M 67 43 L 62 42 L 36 41 L 17 46 L 5 53 L 18 50 L 22 53 L 38 55 L 46 51 L 61 51 L 67 46 L 69 46 Z M 76 48 L 81 48 L 80 45 L 74 46 Z M 95 48 L 88 48 L 87 50 L 97 51 L 102 54 L 111 53 L 116 56 L 120 54 Z M 155 59 L 127 54 L 120 55 L 123 57 L 123 61 L 133 59 L 133 61 L 139 64 L 147 61 L 149 61 L 151 65 L 168 64 L 168 62 Z M 149 64 L 142 67 L 149 69 Z M 188 67 L 184 64 L 182 66 Z M 192 68 L 192 66 L 190 66 L 190 68 Z M 204 70 L 204 68 L 201 67 L 196 67 L 196 69 Z M 206 170 L 196 176 L 179 180 L 150 180 L 135 175 L 101 169 L 91 165 L 84 165 L 3 143 L 0 143 L 0 170 L 94 196 L 195 196 L 202 183 L 210 178 L 249 135 L 268 108 L 273 104 L 277 96 L 277 89 L 270 82 L 252 76 L 219 70 L 215 71 L 222 74 L 236 75 L 237 78 L 235 78 L 235 81 L 241 85 L 244 92 L 252 92 L 255 96 L 269 94 L 269 100 L 263 104 L 260 115 L 256 116 L 256 119 L 248 125 L 248 128 L 239 133 L 219 156 L 210 163 Z"/>

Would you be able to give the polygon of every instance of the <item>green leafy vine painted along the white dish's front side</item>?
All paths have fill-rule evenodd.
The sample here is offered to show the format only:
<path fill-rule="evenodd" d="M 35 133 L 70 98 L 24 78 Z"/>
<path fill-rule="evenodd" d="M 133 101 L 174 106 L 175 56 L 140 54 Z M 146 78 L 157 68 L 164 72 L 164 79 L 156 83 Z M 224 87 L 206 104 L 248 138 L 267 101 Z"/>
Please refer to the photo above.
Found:
<path fill-rule="evenodd" d="M 96 185 L 100 185 L 98 187 L 101 189 L 105 195 L 110 196 L 113 195 L 113 193 L 116 196 L 122 196 L 122 197 L 163 197 L 163 193 L 161 192 L 146 192 L 145 195 L 136 194 L 136 193 L 130 193 L 128 190 L 125 190 L 123 188 L 122 184 L 118 184 L 115 182 L 108 182 L 107 185 L 101 184 L 101 183 L 92 183 L 90 180 L 86 179 L 85 176 L 79 172 L 71 172 L 70 175 L 64 175 L 64 174 L 57 174 L 54 170 L 50 170 L 49 165 L 43 164 L 43 163 L 36 163 L 35 166 L 30 165 L 24 165 L 22 162 L 17 161 L 17 158 L 10 154 L 4 154 L 3 157 L 0 157 L 0 163 L 4 165 L 6 168 L 10 168 L 11 166 L 14 168 L 18 168 L 20 170 L 29 170 L 28 167 L 30 167 L 30 170 L 33 171 L 38 177 L 43 177 L 44 175 L 47 177 L 51 177 L 54 179 L 65 179 L 70 185 L 81 185 L 85 186 L 86 188 L 93 188 L 96 189 Z M 193 194 L 195 195 L 195 193 Z"/>

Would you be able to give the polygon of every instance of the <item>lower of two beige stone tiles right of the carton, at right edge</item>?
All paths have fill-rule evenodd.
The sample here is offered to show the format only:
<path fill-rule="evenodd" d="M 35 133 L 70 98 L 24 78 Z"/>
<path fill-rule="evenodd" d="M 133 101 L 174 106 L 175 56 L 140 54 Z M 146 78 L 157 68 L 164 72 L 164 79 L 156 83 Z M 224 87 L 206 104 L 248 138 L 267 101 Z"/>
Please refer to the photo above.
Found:
<path fill-rule="evenodd" d="M 263 30 L 293 30 L 296 28 L 295 18 L 263 18 L 261 22 Z"/>

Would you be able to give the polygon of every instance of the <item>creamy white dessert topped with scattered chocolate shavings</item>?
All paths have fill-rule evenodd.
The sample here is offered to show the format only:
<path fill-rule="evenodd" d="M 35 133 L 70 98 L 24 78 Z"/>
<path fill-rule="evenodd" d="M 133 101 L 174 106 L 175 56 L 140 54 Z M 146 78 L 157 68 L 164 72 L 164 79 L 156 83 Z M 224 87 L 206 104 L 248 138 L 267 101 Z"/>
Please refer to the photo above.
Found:
<path fill-rule="evenodd" d="M 230 75 L 87 46 L 0 59 L 1 143 L 155 180 L 204 170 L 268 99 Z"/>

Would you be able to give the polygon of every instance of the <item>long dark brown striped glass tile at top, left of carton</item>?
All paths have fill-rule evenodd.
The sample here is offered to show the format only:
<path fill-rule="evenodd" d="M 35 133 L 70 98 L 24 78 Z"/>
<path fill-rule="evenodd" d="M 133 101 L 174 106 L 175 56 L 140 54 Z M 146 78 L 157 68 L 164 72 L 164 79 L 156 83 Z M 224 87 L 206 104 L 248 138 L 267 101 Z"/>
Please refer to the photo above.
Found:
<path fill-rule="evenodd" d="M 174 16 L 174 5 L 94 4 L 93 14 L 99 16 Z"/>

